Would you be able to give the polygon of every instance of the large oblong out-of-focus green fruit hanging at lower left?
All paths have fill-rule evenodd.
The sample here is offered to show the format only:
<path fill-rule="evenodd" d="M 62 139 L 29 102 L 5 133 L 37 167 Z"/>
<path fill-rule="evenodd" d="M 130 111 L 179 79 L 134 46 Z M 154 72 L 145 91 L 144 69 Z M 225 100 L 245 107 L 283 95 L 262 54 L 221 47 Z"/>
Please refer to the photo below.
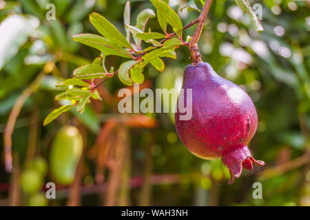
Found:
<path fill-rule="evenodd" d="M 83 151 L 83 138 L 75 126 L 63 126 L 56 134 L 50 152 L 50 170 L 59 184 L 72 184 Z"/>

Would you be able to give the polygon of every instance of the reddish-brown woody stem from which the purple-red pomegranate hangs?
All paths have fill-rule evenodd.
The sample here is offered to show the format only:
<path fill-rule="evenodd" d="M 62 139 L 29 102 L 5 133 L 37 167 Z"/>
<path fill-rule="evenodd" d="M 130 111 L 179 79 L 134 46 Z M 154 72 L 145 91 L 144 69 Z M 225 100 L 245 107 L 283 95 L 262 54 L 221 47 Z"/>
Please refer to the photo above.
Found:
<path fill-rule="evenodd" d="M 201 57 L 200 57 L 201 55 L 199 54 L 197 43 L 200 39 L 201 32 L 203 32 L 203 25 L 205 24 L 205 18 L 207 17 L 211 3 L 212 3 L 212 0 L 205 1 L 203 10 L 201 11 L 198 17 L 198 25 L 197 25 L 196 31 L 192 37 L 192 40 L 189 41 L 189 44 L 188 44 L 188 49 L 189 49 L 189 52 L 191 53 L 193 65 L 197 65 L 198 63 L 203 62 L 201 61 Z"/>

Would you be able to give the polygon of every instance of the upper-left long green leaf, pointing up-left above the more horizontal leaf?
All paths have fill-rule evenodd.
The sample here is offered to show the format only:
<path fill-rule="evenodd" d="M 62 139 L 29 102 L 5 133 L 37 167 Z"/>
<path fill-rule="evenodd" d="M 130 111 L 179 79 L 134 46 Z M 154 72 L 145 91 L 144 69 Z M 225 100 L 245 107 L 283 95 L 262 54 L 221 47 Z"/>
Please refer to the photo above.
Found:
<path fill-rule="evenodd" d="M 107 21 L 105 17 L 101 16 L 100 14 L 96 12 L 92 12 L 90 14 L 90 22 L 96 30 L 99 31 L 100 34 L 105 36 L 106 39 L 109 39 L 110 41 L 117 43 L 118 45 L 121 45 L 122 47 L 127 47 L 129 49 L 134 50 L 132 48 L 132 45 L 127 41 L 125 36 L 119 32 L 110 21 Z"/>

